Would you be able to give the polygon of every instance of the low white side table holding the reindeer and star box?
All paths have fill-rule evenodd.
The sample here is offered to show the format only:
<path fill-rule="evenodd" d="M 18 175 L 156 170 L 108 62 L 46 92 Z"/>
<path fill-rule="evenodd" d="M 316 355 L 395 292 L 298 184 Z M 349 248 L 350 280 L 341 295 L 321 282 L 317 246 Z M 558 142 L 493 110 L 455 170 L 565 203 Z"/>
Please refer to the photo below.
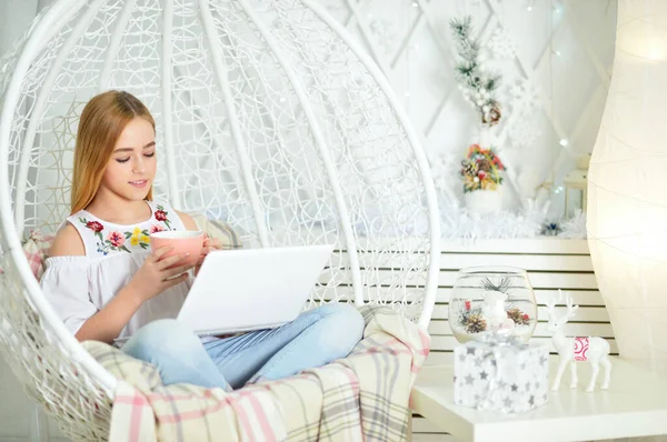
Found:
<path fill-rule="evenodd" d="M 556 372 L 552 359 L 549 375 Z M 588 363 L 578 366 L 579 386 L 568 389 L 566 371 L 559 391 L 528 413 L 506 415 L 454 404 L 452 366 L 422 369 L 412 389 L 415 412 L 459 441 L 589 441 L 667 434 L 667 379 L 611 358 L 609 390 L 586 393 Z M 520 435 L 520 438 L 518 436 Z"/>

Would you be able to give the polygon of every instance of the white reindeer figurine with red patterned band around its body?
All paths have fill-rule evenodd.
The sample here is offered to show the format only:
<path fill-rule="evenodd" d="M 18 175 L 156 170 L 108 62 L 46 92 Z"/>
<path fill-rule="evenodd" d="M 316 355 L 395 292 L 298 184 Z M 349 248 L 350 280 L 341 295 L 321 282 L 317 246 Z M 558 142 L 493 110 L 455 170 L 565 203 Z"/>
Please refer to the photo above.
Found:
<path fill-rule="evenodd" d="M 563 299 L 563 293 L 558 291 L 558 299 Z M 605 380 L 600 386 L 603 390 L 609 388 L 609 378 L 611 375 L 611 362 L 609 361 L 609 343 L 601 338 L 566 338 L 563 334 L 563 325 L 575 315 L 579 305 L 573 305 L 573 298 L 566 297 L 567 312 L 565 315 L 556 319 L 556 301 L 547 302 L 547 311 L 549 312 L 549 323 L 547 330 L 552 333 L 551 342 L 560 355 L 558 372 L 554 379 L 551 390 L 558 390 L 563 372 L 570 363 L 570 389 L 577 388 L 577 361 L 589 361 L 591 373 L 588 382 L 587 392 L 595 390 L 595 382 L 600 371 L 600 363 L 605 368 Z"/>

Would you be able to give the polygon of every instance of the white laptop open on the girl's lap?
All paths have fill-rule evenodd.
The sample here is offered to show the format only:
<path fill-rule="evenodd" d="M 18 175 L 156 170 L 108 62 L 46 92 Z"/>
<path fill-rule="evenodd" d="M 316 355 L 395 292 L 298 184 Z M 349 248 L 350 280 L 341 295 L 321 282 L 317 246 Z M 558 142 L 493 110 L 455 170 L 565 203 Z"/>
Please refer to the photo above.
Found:
<path fill-rule="evenodd" d="M 177 320 L 198 335 L 279 327 L 303 310 L 334 245 L 217 250 Z"/>

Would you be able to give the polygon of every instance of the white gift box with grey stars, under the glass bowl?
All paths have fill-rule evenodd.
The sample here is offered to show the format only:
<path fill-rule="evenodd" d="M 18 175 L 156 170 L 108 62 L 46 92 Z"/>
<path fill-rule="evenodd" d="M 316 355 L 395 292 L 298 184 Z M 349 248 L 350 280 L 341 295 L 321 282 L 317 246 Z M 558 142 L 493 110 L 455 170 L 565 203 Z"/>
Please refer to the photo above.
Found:
<path fill-rule="evenodd" d="M 457 405 L 522 413 L 547 403 L 547 345 L 472 341 L 455 348 L 454 358 Z"/>

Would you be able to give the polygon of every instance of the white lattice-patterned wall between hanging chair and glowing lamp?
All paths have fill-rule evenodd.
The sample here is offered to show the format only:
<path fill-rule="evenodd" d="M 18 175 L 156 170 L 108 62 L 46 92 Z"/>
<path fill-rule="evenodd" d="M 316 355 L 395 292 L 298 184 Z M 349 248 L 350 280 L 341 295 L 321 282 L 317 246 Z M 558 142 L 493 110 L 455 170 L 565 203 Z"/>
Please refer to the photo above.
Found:
<path fill-rule="evenodd" d="M 439 192 L 454 190 L 465 151 L 478 142 L 478 115 L 454 77 L 452 18 L 469 14 L 482 43 L 511 41 L 511 56 L 485 63 L 502 76 L 502 119 L 496 150 L 508 165 L 505 209 L 518 209 L 542 183 L 552 182 L 554 212 L 563 213 L 563 177 L 593 151 L 611 73 L 615 0 L 319 0 L 384 70 L 431 159 L 446 164 Z M 494 39 L 504 30 L 508 39 Z M 530 81 L 537 100 L 512 98 Z M 528 107 L 526 104 L 529 104 Z M 535 132 L 528 143 L 517 137 Z M 567 140 L 567 147 L 560 145 Z M 437 174 L 438 171 L 436 171 Z M 438 180 L 436 180 L 438 184 Z M 518 193 L 518 194 L 517 194 Z M 448 198 L 441 211 L 452 211 Z"/>

